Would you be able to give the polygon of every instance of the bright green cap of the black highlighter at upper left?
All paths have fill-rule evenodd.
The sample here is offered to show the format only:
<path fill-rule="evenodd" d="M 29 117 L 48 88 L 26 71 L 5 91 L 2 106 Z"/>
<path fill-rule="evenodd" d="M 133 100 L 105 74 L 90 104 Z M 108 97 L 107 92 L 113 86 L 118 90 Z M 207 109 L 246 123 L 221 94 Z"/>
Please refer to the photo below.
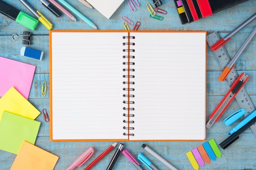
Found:
<path fill-rule="evenodd" d="M 36 18 L 33 18 L 22 11 L 20 11 L 15 21 L 31 30 L 35 30 L 39 22 Z"/>

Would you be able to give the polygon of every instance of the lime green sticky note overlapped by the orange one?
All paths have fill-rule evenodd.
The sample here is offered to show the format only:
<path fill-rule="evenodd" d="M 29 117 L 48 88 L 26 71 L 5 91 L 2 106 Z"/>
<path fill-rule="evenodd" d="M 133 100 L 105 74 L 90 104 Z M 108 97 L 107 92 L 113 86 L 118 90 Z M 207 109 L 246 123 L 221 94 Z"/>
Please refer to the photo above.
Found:
<path fill-rule="evenodd" d="M 35 144 L 40 122 L 9 112 L 0 121 L 0 150 L 18 154 L 24 141 Z"/>

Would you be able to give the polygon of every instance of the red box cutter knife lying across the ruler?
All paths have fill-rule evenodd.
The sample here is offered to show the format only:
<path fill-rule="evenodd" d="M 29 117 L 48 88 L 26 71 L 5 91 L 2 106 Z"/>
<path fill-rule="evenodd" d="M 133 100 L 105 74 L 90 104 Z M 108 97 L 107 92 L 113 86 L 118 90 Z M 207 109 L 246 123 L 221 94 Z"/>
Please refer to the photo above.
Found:
<path fill-rule="evenodd" d="M 229 91 L 225 96 L 222 98 L 218 106 L 213 110 L 209 121 L 206 124 L 206 128 L 209 129 L 213 125 L 213 123 L 216 123 L 220 116 L 225 112 L 231 101 L 236 97 L 236 94 L 238 94 L 239 90 L 245 85 L 247 82 L 249 76 L 245 73 L 241 73 L 240 76 L 236 79 L 236 81 L 233 83 L 233 85 L 230 87 Z"/>

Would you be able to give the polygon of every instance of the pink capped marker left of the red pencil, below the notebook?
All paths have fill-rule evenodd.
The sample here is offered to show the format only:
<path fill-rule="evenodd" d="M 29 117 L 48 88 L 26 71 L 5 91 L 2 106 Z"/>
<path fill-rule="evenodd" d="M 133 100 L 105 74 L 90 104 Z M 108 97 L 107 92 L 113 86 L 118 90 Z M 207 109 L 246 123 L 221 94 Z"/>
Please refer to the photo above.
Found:
<path fill-rule="evenodd" d="M 93 153 L 94 149 L 92 147 L 88 148 L 66 170 L 74 170 L 76 167 L 81 167 L 83 163 L 88 161 L 88 159 L 92 156 Z"/>

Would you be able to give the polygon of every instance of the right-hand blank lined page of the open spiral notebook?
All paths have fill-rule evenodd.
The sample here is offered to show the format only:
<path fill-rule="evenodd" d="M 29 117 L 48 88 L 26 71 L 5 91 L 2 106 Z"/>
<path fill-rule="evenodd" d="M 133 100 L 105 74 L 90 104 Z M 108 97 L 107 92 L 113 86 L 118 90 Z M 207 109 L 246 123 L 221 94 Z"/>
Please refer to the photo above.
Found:
<path fill-rule="evenodd" d="M 204 140 L 205 32 L 131 32 L 135 36 L 135 123 L 130 140 Z"/>

